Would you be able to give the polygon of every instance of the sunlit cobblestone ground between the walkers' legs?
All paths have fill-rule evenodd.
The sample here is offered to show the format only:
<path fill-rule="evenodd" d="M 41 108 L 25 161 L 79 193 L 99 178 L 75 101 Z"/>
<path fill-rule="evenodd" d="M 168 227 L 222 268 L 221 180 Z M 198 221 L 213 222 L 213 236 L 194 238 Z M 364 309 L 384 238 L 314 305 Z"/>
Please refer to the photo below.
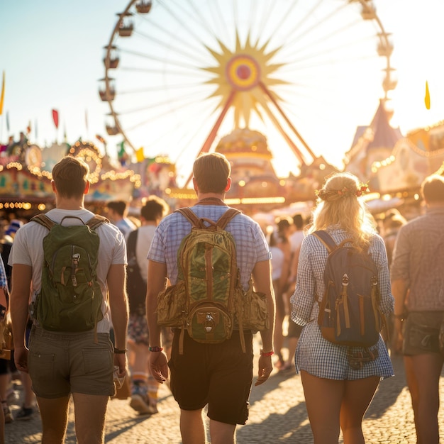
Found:
<path fill-rule="evenodd" d="M 367 411 L 364 433 L 367 444 L 416 444 L 413 412 L 401 357 L 393 358 L 396 376 L 381 382 Z M 444 372 L 440 383 L 440 435 L 444 439 Z M 18 410 L 19 401 L 11 406 Z M 262 386 L 252 387 L 250 418 L 237 430 L 238 444 L 313 443 L 304 404 L 301 379 L 294 372 L 272 373 Z M 73 409 L 70 408 L 67 444 L 76 443 Z M 109 402 L 106 443 L 180 444 L 179 409 L 167 387 L 160 389 L 159 414 L 137 416 L 129 401 Z M 6 444 L 40 443 L 40 418 L 6 424 Z M 342 443 L 342 439 L 340 440 Z"/>

